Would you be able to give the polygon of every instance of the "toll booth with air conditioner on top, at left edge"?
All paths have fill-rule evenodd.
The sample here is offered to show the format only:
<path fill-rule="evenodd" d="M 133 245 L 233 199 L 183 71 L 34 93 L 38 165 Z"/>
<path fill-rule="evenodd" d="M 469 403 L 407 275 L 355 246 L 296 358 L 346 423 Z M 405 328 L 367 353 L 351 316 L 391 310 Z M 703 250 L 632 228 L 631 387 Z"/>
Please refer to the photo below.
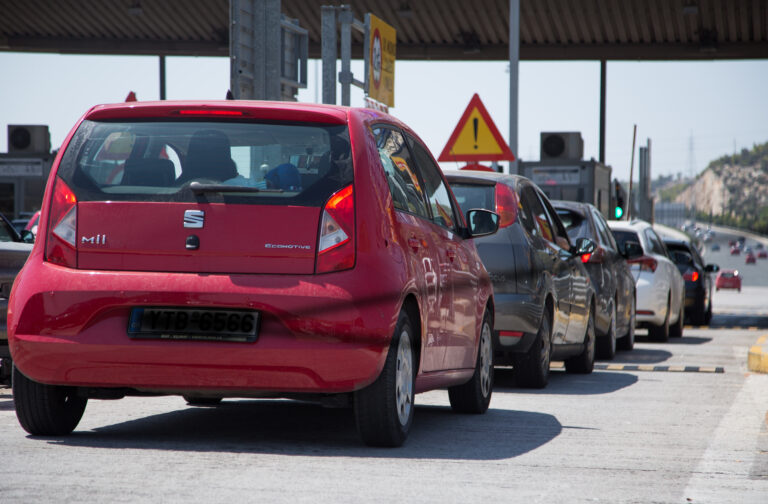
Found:
<path fill-rule="evenodd" d="M 8 125 L 8 152 L 0 153 L 0 212 L 9 219 L 40 210 L 53 162 L 48 126 Z"/>

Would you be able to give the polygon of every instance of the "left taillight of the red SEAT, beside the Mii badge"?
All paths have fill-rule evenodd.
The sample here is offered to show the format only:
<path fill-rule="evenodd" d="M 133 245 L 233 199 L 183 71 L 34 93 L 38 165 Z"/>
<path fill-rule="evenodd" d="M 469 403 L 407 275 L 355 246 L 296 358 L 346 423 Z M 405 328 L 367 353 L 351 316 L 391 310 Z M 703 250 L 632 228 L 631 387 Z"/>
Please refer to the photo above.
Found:
<path fill-rule="evenodd" d="M 77 197 L 58 177 L 48 215 L 45 260 L 70 268 L 77 267 Z"/>

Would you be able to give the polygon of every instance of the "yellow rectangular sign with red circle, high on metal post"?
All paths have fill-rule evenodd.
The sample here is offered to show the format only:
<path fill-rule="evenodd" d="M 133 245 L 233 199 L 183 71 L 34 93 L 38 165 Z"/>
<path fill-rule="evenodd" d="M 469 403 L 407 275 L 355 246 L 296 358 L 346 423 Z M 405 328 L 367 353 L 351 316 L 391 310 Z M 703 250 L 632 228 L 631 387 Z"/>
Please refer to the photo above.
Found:
<path fill-rule="evenodd" d="M 365 15 L 368 74 L 366 88 L 368 97 L 389 107 L 395 106 L 395 49 L 397 32 L 374 16 Z"/>

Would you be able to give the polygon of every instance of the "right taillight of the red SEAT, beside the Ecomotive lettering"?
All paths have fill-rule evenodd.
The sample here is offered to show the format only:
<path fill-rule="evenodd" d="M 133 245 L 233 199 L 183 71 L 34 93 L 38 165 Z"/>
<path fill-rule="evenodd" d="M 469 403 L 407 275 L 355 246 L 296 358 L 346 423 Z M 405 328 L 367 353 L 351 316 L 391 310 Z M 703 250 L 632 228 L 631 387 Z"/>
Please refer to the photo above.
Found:
<path fill-rule="evenodd" d="M 317 272 L 350 269 L 355 265 L 355 198 L 349 185 L 334 193 L 320 217 Z"/>

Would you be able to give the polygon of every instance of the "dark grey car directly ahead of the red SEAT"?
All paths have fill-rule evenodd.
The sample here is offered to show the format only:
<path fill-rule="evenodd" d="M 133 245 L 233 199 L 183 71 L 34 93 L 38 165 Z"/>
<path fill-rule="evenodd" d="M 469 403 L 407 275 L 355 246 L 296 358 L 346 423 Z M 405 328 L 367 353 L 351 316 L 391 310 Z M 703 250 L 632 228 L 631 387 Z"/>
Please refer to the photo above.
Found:
<path fill-rule="evenodd" d="M 465 212 L 499 214 L 499 232 L 475 240 L 493 282 L 494 362 L 512 365 L 526 387 L 546 386 L 554 359 L 564 359 L 568 372 L 590 373 L 596 301 L 581 257 L 595 244 L 572 242 L 550 201 L 525 177 L 480 171 L 446 177 Z"/>

